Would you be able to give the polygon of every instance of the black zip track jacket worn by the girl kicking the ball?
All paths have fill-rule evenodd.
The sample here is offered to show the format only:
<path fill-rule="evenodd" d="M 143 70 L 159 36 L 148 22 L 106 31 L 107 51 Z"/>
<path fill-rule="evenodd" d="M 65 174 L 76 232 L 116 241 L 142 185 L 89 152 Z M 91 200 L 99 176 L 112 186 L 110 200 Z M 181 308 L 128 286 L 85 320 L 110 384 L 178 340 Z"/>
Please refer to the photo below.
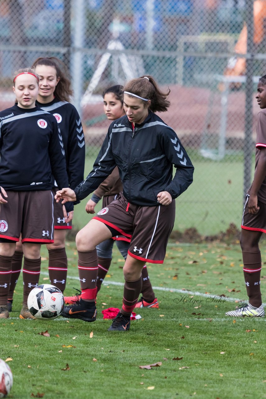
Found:
<path fill-rule="evenodd" d="M 116 165 L 123 194 L 135 205 L 160 205 L 161 191 L 177 198 L 193 181 L 194 167 L 177 135 L 151 111 L 134 129 L 126 115 L 110 124 L 93 170 L 74 190 L 77 200 L 96 190 Z"/>

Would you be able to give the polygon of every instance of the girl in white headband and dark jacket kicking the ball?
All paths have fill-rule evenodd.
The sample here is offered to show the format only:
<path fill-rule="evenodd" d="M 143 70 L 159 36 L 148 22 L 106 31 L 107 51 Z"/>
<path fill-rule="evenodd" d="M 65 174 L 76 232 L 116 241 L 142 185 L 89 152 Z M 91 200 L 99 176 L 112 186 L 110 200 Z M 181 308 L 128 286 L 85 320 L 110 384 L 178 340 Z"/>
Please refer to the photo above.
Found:
<path fill-rule="evenodd" d="M 118 166 L 123 192 L 77 233 L 81 299 L 64 307 L 64 317 L 96 320 L 95 247 L 103 239 L 119 233 L 131 239 L 124 265 L 122 308 L 109 331 L 129 330 L 142 288 L 143 266 L 164 262 L 175 219 L 174 199 L 192 183 L 194 170 L 173 129 L 154 113 L 167 111 L 169 92 L 163 93 L 151 76 L 129 81 L 123 93 L 126 115 L 111 123 L 93 170 L 75 190 L 63 188 L 55 196 L 57 201 L 63 199 L 62 203 L 81 200 Z"/>

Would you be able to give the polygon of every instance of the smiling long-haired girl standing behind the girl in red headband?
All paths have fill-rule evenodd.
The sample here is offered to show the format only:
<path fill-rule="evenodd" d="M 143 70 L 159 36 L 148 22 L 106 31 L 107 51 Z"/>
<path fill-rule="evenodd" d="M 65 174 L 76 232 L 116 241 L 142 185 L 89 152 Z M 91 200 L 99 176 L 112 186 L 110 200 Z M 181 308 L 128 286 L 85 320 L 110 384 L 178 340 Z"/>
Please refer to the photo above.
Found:
<path fill-rule="evenodd" d="M 71 82 L 64 70 L 64 65 L 56 57 L 39 57 L 32 65 L 35 73 L 39 75 L 39 93 L 36 105 L 43 111 L 52 114 L 57 120 L 57 126 L 62 137 L 64 154 L 67 164 L 69 187 L 74 189 L 84 178 L 85 165 L 85 139 L 81 119 L 75 107 L 69 103 L 73 94 Z M 53 195 L 58 188 L 53 187 Z M 57 286 L 62 292 L 67 279 L 67 254 L 65 250 L 65 237 L 68 229 L 72 229 L 73 212 L 65 220 L 63 208 L 54 201 L 54 242 L 47 244 L 48 270 L 51 284 Z M 12 309 L 13 292 L 16 281 L 20 275 L 23 251 L 21 243 L 17 244 L 12 261 L 12 277 L 8 294 L 8 306 Z"/>

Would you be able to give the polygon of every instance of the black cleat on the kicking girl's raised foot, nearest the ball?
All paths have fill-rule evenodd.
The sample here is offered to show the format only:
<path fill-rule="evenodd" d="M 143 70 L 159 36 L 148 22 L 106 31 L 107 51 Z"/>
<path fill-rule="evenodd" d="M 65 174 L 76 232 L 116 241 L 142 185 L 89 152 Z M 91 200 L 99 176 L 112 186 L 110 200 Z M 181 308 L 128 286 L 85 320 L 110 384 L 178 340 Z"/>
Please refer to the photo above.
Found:
<path fill-rule="evenodd" d="M 61 316 L 67 317 L 70 319 L 80 319 L 85 322 L 95 322 L 97 317 L 96 306 L 88 306 L 93 302 L 86 302 L 82 299 L 77 300 L 77 302 L 73 303 L 69 306 L 64 306 L 63 312 Z"/>

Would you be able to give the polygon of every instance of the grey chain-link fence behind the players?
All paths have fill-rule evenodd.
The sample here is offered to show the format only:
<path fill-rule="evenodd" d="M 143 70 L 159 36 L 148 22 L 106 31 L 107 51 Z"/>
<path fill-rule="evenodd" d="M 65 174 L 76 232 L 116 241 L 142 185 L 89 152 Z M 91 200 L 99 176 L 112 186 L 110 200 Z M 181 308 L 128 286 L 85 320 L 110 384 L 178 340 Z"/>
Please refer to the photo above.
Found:
<path fill-rule="evenodd" d="M 253 175 L 265 20 L 266 0 L 0 0 L 0 107 L 14 103 L 14 70 L 39 56 L 63 60 L 83 120 L 87 173 L 109 125 L 102 91 L 153 75 L 171 89 L 162 119 L 195 165 L 192 186 L 177 199 L 175 229 L 225 231 L 240 226 Z"/>

